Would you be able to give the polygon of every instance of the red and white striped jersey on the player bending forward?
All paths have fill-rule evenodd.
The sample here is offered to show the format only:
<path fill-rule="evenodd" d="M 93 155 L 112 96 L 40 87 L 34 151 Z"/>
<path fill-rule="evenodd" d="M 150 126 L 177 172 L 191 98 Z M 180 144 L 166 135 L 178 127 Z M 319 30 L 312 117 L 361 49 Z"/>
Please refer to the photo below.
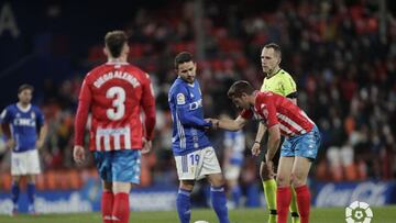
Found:
<path fill-rule="evenodd" d="M 255 116 L 267 127 L 279 123 L 280 134 L 287 137 L 301 135 L 312 130 L 315 123 L 287 98 L 271 91 L 257 92 L 254 110 L 243 110 L 243 119 Z"/>

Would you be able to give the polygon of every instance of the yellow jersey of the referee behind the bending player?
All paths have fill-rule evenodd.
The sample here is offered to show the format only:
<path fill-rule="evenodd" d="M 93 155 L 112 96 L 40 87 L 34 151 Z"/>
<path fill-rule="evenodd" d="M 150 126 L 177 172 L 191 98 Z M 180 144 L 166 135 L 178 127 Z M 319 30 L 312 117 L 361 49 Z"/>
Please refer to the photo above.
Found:
<path fill-rule="evenodd" d="M 288 98 L 296 98 L 297 93 L 296 82 L 284 69 L 279 69 L 271 78 L 265 77 L 260 90 L 272 91 Z"/>

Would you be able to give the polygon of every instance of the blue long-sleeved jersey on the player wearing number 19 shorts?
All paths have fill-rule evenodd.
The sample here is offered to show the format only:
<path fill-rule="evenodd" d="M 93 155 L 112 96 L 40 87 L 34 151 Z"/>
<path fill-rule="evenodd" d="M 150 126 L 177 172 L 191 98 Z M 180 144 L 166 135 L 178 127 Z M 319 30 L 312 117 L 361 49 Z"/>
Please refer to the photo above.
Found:
<path fill-rule="evenodd" d="M 173 120 L 172 149 L 175 156 L 183 156 L 211 146 L 205 127 L 211 123 L 204 120 L 202 93 L 197 80 L 188 83 L 177 78 L 168 93 Z"/>

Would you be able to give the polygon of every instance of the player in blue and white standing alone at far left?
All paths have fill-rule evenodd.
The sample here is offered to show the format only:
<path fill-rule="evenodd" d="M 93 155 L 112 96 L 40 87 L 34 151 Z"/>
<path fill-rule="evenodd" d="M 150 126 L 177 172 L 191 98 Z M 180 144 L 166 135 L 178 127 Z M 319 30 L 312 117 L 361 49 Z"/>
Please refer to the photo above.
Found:
<path fill-rule="evenodd" d="M 35 178 L 41 172 L 37 149 L 43 147 L 47 133 L 42 111 L 31 103 L 33 86 L 22 85 L 18 89 L 19 101 L 8 105 L 1 113 L 1 127 L 8 137 L 11 153 L 12 214 L 18 213 L 20 179 L 28 178 L 29 213 L 35 214 Z M 37 134 L 38 130 L 38 134 Z"/>

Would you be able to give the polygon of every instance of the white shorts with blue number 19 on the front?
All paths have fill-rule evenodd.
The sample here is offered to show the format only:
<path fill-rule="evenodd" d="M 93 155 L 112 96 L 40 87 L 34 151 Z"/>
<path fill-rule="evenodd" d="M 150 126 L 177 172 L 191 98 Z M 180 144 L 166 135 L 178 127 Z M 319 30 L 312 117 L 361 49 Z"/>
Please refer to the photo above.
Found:
<path fill-rule="evenodd" d="M 208 175 L 221 174 L 213 147 L 206 147 L 184 156 L 175 156 L 179 180 L 199 180 Z"/>

